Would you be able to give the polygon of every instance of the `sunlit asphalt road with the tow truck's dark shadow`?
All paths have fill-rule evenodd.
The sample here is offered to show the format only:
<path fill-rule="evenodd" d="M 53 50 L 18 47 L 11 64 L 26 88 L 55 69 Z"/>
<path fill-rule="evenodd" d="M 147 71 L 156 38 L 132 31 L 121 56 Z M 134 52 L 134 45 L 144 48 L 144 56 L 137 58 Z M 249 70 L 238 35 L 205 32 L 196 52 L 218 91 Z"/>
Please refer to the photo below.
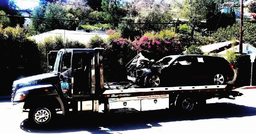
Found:
<path fill-rule="evenodd" d="M 1 134 L 68 133 L 68 134 L 255 134 L 256 89 L 240 89 L 236 100 L 210 99 L 191 115 L 171 111 L 130 113 L 105 117 L 103 114 L 59 115 L 52 127 L 33 128 L 27 113 L 16 114 L 10 101 L 0 101 Z"/>

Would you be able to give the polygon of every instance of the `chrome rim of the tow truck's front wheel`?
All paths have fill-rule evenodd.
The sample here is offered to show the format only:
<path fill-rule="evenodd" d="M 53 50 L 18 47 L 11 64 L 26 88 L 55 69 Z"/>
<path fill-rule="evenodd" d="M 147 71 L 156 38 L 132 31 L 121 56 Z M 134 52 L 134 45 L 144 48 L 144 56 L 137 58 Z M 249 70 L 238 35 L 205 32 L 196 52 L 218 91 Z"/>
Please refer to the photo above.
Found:
<path fill-rule="evenodd" d="M 45 124 L 50 120 L 51 113 L 47 108 L 38 108 L 34 112 L 34 121 L 38 124 Z"/>

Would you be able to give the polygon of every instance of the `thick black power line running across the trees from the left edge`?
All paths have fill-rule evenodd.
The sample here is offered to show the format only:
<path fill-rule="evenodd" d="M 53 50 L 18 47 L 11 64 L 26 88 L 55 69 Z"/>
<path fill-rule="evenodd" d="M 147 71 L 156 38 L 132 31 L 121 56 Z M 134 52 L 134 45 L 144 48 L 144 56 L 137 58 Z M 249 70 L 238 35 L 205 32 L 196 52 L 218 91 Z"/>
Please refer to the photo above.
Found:
<path fill-rule="evenodd" d="M 76 20 L 76 19 L 57 19 L 57 18 L 27 17 L 27 16 L 17 16 L 17 15 L 0 15 L 0 16 L 21 17 L 21 18 L 37 18 L 37 19 L 50 19 L 50 20 L 59 20 L 59 21 L 99 22 L 99 23 L 125 23 L 125 24 L 176 24 L 176 23 L 139 23 L 139 22 L 138 22 L 138 23 L 136 23 L 136 22 L 87 21 L 87 20 Z M 184 23 L 184 24 L 193 24 L 193 23 Z"/>

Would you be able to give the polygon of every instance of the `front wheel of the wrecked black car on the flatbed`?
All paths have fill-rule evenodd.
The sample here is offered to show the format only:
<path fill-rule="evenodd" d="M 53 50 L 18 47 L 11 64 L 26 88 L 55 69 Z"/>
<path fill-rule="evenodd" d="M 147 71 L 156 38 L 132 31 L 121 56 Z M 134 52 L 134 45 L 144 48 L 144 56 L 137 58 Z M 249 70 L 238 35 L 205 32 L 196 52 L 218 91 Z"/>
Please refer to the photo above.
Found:
<path fill-rule="evenodd" d="M 144 79 L 144 85 L 146 88 L 156 88 L 160 84 L 159 74 L 149 74 Z"/>

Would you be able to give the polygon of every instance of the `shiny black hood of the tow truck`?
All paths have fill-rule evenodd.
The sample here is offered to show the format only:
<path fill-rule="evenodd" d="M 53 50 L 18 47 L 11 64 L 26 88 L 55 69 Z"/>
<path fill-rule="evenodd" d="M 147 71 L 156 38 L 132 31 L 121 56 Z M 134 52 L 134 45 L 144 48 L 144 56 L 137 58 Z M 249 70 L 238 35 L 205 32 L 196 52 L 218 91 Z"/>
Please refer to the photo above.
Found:
<path fill-rule="evenodd" d="M 40 80 L 55 77 L 55 76 L 57 76 L 56 73 L 46 73 L 46 74 L 39 74 L 39 75 L 36 75 L 36 76 L 30 76 L 30 77 L 15 80 L 12 86 L 13 87 L 14 86 L 19 87 L 19 86 L 39 84 Z"/>

